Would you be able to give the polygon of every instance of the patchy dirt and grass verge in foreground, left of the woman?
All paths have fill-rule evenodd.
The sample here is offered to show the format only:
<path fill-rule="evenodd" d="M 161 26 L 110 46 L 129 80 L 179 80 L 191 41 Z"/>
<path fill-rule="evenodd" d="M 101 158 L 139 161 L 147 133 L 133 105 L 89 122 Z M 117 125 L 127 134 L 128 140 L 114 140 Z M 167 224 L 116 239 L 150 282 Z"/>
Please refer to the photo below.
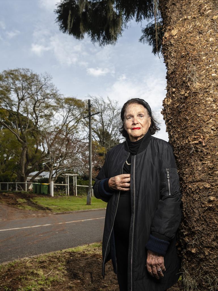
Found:
<path fill-rule="evenodd" d="M 25 258 L 0 270 L 0 290 L 118 291 L 116 275 L 107 266 L 101 276 L 100 248 L 79 252 L 64 251 Z"/>

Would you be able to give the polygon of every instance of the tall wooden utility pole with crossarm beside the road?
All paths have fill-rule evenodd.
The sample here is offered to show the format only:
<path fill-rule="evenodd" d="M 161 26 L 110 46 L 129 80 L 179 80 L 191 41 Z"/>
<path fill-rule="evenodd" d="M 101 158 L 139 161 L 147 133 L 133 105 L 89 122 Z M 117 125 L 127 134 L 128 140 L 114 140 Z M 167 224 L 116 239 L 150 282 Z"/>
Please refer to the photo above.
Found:
<path fill-rule="evenodd" d="M 89 189 L 86 199 L 86 205 L 91 205 L 91 197 L 92 197 L 92 116 L 97 113 L 91 114 L 91 100 L 88 100 L 88 113 L 89 115 L 84 118 L 89 118 Z"/>

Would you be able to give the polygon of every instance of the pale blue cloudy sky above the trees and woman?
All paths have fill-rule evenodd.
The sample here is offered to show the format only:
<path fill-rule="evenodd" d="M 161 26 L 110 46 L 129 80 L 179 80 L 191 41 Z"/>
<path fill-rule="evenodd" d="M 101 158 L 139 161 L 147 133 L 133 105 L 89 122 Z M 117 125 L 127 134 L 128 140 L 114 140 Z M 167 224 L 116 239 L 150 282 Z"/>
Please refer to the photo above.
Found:
<path fill-rule="evenodd" d="M 0 71 L 46 71 L 65 96 L 108 96 L 120 106 L 130 98 L 143 98 L 160 122 L 156 136 L 168 141 L 160 113 L 166 94 L 165 64 L 151 47 L 138 42 L 140 24 L 131 22 L 115 46 L 100 48 L 88 38 L 79 41 L 59 31 L 53 12 L 57 2 L 0 0 Z"/>

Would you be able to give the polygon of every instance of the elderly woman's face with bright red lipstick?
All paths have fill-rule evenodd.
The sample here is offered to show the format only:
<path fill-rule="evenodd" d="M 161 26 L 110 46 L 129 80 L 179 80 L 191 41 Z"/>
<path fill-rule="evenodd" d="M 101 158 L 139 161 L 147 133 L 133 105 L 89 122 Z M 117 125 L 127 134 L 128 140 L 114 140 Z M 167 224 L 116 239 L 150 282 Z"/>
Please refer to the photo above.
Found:
<path fill-rule="evenodd" d="M 146 108 L 137 103 L 129 104 L 124 113 L 124 128 L 131 141 L 138 141 L 148 131 L 151 117 Z"/>

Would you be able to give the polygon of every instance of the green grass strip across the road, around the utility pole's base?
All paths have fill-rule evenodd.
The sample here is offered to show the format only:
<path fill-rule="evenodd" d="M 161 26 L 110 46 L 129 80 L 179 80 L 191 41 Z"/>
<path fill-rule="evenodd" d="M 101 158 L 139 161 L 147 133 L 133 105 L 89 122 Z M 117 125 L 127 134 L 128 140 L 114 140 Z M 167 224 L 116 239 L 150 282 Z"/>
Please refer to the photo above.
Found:
<path fill-rule="evenodd" d="M 86 205 L 86 196 L 45 196 L 34 197 L 33 202 L 49 207 L 53 212 L 106 208 L 107 203 L 92 197 L 91 205 Z"/>

